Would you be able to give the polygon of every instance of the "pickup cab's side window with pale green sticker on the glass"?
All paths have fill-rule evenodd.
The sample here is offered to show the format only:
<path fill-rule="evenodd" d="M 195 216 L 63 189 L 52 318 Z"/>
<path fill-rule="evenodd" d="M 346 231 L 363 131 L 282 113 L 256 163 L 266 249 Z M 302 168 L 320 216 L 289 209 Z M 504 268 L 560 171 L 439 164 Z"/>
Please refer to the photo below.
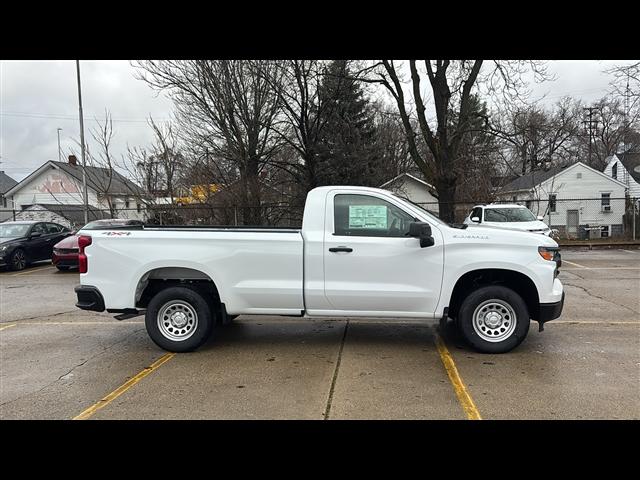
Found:
<path fill-rule="evenodd" d="M 369 195 L 336 195 L 333 201 L 334 235 L 405 237 L 413 216 Z"/>

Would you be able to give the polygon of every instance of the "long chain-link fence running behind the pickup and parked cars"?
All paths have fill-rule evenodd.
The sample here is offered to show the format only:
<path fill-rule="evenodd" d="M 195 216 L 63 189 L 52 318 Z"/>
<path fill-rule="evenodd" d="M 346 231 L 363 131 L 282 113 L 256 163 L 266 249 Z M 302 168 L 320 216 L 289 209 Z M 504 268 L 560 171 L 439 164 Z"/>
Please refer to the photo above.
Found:
<path fill-rule="evenodd" d="M 554 230 L 554 237 L 570 240 L 592 240 L 597 238 L 640 239 L 640 199 L 610 198 L 550 198 L 520 201 L 498 201 L 493 203 L 456 202 L 453 205 L 454 221 L 462 223 L 470 218 L 474 208 L 492 204 L 517 203 L 526 206 L 534 217 Z M 424 209 L 438 215 L 442 205 L 418 203 Z M 89 221 L 104 218 L 142 220 L 152 225 L 216 225 L 216 226 L 275 226 L 294 227 L 302 225 L 303 205 L 269 203 L 258 207 L 237 205 L 147 205 L 141 208 L 105 210 L 90 207 Z M 484 216 L 482 221 L 489 220 Z M 56 222 L 70 228 L 84 225 L 82 205 L 32 205 L 23 210 L 0 210 L 0 221 L 38 220 Z M 495 218 L 494 218 L 495 220 Z M 499 221 L 499 220 L 498 220 Z M 507 223 L 505 223 L 507 226 Z M 634 234 L 635 231 L 635 234 Z"/>

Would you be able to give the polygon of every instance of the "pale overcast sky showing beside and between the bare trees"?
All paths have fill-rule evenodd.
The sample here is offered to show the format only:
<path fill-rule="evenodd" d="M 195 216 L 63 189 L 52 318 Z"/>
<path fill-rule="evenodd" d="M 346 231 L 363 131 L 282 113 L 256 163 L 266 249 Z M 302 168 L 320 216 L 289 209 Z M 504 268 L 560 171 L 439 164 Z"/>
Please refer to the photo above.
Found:
<path fill-rule="evenodd" d="M 532 84 L 534 97 L 547 95 L 554 102 L 564 95 L 585 102 L 607 93 L 609 75 L 603 70 L 625 61 L 551 61 L 553 82 Z M 146 123 L 171 117 L 171 101 L 134 77 L 128 61 L 82 61 L 82 100 L 85 137 L 94 118 L 111 111 L 115 136 L 113 149 L 120 156 L 126 145 L 144 146 L 151 141 Z M 78 91 L 74 61 L 0 62 L 0 170 L 21 180 L 47 160 L 58 159 L 57 128 L 63 159 L 78 151 Z"/>

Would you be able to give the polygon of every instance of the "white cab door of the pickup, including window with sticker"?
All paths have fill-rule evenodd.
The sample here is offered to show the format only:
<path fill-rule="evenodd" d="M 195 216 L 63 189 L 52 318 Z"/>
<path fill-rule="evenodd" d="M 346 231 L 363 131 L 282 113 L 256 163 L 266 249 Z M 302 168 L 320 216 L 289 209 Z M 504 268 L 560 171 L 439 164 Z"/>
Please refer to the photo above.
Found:
<path fill-rule="evenodd" d="M 341 190 L 325 211 L 325 297 L 335 310 L 366 316 L 428 316 L 443 273 L 440 231 L 421 248 L 407 236 L 416 219 L 389 197 Z"/>

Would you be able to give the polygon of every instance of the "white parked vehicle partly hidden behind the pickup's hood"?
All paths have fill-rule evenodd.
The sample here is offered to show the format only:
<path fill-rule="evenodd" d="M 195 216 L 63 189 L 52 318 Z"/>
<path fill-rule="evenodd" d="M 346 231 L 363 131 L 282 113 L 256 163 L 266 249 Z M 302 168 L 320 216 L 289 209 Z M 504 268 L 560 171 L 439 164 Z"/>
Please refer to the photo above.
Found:
<path fill-rule="evenodd" d="M 489 227 L 523 230 L 549 236 L 551 229 L 542 221 L 542 216 L 535 216 L 531 210 L 515 203 L 490 203 L 476 205 L 464 219 L 465 225 L 482 225 Z"/>

